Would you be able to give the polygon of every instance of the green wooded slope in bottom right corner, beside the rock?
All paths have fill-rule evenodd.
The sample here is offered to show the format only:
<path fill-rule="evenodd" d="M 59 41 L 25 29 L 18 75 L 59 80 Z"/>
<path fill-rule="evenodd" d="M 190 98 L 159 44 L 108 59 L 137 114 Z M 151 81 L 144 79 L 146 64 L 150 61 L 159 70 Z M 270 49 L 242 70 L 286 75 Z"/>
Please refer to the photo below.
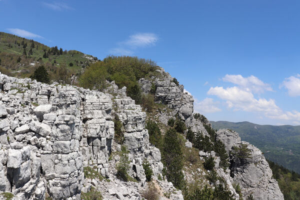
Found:
<path fill-rule="evenodd" d="M 300 174 L 267 160 L 284 199 L 300 200 Z"/>

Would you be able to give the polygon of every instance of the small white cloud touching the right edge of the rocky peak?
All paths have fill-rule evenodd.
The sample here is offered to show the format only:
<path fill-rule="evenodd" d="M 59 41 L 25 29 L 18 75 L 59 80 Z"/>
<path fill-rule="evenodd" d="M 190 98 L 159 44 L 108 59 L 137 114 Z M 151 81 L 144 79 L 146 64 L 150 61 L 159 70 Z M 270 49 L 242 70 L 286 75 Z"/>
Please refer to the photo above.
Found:
<path fill-rule="evenodd" d="M 221 111 L 221 109 L 216 105 L 217 103 L 214 102 L 212 98 L 204 98 L 202 101 L 195 99 L 194 101 L 195 111 L 199 113 L 212 113 Z"/>

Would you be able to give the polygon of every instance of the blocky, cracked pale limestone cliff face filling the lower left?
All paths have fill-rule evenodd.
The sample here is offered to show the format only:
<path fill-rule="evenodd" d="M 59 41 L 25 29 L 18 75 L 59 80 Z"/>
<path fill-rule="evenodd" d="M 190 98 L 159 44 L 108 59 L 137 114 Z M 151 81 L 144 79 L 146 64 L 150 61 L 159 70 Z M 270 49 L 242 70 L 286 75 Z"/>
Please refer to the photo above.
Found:
<path fill-rule="evenodd" d="M 0 73 L 0 192 L 16 199 L 80 199 L 83 167 L 108 177 L 114 138 L 113 100 L 130 150 L 130 175 L 143 182 L 142 161 L 161 175 L 160 152 L 149 144 L 145 113 L 112 83 L 113 96 L 48 85 Z M 181 195 L 181 193 L 180 193 Z M 181 195 L 182 196 L 182 195 Z"/>

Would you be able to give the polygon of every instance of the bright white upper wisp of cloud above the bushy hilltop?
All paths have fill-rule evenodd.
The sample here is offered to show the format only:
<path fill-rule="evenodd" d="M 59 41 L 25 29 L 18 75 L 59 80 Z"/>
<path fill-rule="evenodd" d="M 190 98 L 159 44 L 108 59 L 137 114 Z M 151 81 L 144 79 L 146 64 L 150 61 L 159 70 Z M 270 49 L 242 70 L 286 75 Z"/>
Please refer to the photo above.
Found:
<path fill-rule="evenodd" d="M 145 47 L 155 44 L 157 40 L 158 36 L 156 34 L 144 32 L 130 35 L 124 43 L 131 47 Z"/>

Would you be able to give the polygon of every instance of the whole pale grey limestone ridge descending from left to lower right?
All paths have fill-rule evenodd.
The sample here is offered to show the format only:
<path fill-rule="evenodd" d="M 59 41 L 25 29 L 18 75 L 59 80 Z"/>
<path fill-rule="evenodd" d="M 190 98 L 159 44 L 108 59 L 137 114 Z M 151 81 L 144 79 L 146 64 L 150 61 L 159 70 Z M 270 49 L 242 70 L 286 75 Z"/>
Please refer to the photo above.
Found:
<path fill-rule="evenodd" d="M 208 135 L 203 124 L 210 125 L 209 122 L 193 115 L 192 96 L 162 68 L 158 71 L 161 77 L 139 80 L 145 93 L 154 84 L 155 101 L 168 107 L 159 110 L 157 120 L 167 124 L 169 118 L 177 116 L 193 132 Z M 183 199 L 172 183 L 158 180 L 163 168 L 160 151 L 149 143 L 146 114 L 125 96 L 125 87 L 119 89 L 112 82 L 103 93 L 0 74 L 0 89 L 0 191 L 12 192 L 14 199 L 44 199 L 46 195 L 53 199 L 80 199 L 80 193 L 93 186 L 104 199 L 141 199 L 148 184 L 142 167 L 143 160 L 147 160 L 161 193 L 169 193 L 169 199 Z M 123 182 L 115 176 L 119 157 L 112 152 L 120 150 L 114 141 L 116 115 L 122 122 L 124 144 L 130 151 L 129 175 L 137 182 Z M 230 130 L 219 130 L 216 134 L 229 154 L 232 146 L 242 143 L 238 134 Z M 186 145 L 191 147 L 191 143 Z M 214 157 L 215 170 L 236 199 L 239 195 L 233 183 L 239 183 L 243 196 L 252 194 L 255 199 L 265 199 L 261 196 L 264 194 L 268 199 L 283 199 L 259 149 L 250 144 L 247 148 L 251 156 L 246 164 L 226 170 L 218 167 L 220 159 L 213 151 L 200 151 L 199 156 Z M 111 155 L 114 156 L 110 158 Z M 86 166 L 109 181 L 84 177 Z M 260 176 L 254 177 L 255 173 Z M 167 198 L 161 195 L 160 199 Z"/>

